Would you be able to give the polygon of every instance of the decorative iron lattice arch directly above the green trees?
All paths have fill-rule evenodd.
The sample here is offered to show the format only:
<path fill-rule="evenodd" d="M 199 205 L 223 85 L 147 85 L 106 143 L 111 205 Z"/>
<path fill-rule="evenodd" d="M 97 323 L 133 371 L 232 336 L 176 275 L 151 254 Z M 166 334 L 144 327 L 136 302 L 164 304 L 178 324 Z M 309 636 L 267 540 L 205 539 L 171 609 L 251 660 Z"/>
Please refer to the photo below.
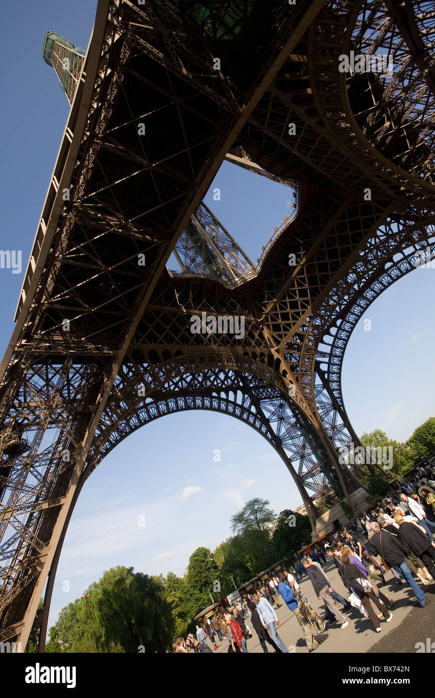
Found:
<path fill-rule="evenodd" d="M 212 357 L 207 355 L 192 355 L 188 362 L 180 359 L 165 366 L 124 366 L 116 381 L 117 394 L 123 400 L 121 405 L 116 399 L 110 401 L 103 414 L 92 451 L 93 462 L 101 461 L 131 431 L 158 417 L 182 410 L 214 410 L 240 419 L 264 436 L 283 458 L 300 489 L 303 485 L 315 493 L 316 499 L 337 492 L 339 483 L 327 465 L 316 430 L 288 400 L 279 374 L 272 369 L 263 371 L 259 366 L 256 375 L 256 366 L 252 362 L 248 366 L 246 359 L 231 362 L 228 355 L 218 358 L 221 366 L 233 363 L 233 367 L 216 369 Z M 211 367 L 200 368 L 207 364 Z M 239 369 L 245 372 L 240 373 Z M 318 389 L 322 416 L 331 425 L 331 436 L 339 444 L 346 443 L 346 437 L 341 436 L 343 425 L 337 424 L 337 420 L 333 424 L 330 406 L 321 392 Z M 307 500 L 307 491 L 302 494 Z"/>

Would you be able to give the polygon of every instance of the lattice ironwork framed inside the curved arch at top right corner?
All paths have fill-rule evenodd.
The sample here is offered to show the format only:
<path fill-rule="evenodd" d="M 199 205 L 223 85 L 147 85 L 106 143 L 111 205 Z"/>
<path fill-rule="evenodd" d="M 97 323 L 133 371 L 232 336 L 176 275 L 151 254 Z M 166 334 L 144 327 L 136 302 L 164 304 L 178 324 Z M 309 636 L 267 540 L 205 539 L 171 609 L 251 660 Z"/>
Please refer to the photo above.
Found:
<path fill-rule="evenodd" d="M 391 64 L 389 70 L 348 77 L 348 96 L 362 133 L 392 163 L 433 183 L 434 3 L 364 1 L 351 48 L 364 56 L 388 56 Z"/>

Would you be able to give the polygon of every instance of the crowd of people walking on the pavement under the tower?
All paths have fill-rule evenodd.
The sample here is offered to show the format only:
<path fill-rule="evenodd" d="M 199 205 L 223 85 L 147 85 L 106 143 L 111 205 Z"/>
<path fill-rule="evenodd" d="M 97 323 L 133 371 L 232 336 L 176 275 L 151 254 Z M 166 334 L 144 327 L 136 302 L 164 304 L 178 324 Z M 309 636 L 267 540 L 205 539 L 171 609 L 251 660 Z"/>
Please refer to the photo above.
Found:
<path fill-rule="evenodd" d="M 220 607 L 212 617 L 204 618 L 196 626 L 196 637 L 189 634 L 186 640 L 177 638 L 174 651 L 211 653 L 217 651 L 219 641 L 228 644 L 229 653 L 247 653 L 247 640 L 255 632 L 264 653 L 269 651 L 267 646 L 277 653 L 288 653 L 277 632 L 280 600 L 300 623 L 309 652 L 315 651 L 328 635 L 316 633 L 315 637 L 313 624 L 304 612 L 311 609 L 299 584 L 306 575 L 323 603 L 325 621 L 338 623 L 340 629 L 349 627 L 345 614 L 354 608 L 370 619 L 375 632 L 381 632 L 382 620 L 390 623 L 393 602 L 379 588 L 385 586 L 388 570 L 395 583 L 411 588 L 420 607 L 427 606 L 430 599 L 424 587 L 435 581 L 434 475 L 431 468 L 420 468 L 412 480 L 396 482 L 375 510 L 310 547 L 293 567 L 281 567 L 277 576 L 270 575 L 254 585 L 233 607 Z M 337 568 L 348 592 L 346 598 L 332 588 L 322 568 L 328 560 Z M 316 616 L 314 611 L 311 614 Z"/>

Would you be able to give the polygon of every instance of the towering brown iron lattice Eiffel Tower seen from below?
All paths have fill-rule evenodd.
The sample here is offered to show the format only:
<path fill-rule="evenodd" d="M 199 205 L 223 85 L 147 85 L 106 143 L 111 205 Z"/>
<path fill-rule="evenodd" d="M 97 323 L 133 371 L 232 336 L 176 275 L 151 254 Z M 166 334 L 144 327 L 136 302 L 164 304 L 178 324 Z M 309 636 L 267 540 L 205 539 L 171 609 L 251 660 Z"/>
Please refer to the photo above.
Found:
<path fill-rule="evenodd" d="M 46 36 L 71 111 L 1 364 L 1 641 L 43 651 L 84 482 L 163 415 L 261 433 L 314 537 L 364 504 L 341 366 L 435 242 L 434 36 L 410 0 L 98 0 L 85 55 Z M 295 204 L 256 265 L 203 202 L 224 160 Z"/>

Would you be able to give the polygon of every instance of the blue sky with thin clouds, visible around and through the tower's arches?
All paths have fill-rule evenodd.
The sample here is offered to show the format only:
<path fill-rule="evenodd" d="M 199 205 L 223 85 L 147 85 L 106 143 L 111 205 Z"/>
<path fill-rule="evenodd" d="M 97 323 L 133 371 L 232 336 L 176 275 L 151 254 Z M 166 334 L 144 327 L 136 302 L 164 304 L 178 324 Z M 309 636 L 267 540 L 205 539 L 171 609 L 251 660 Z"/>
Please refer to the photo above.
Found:
<path fill-rule="evenodd" d="M 22 272 L 0 270 L 0 351 L 13 315 L 69 105 L 41 49 L 54 29 L 86 48 L 96 2 L 54 0 L 3 8 L 0 46 L 1 247 L 22 250 Z M 24 10 L 24 11 L 23 11 Z M 225 163 L 206 202 L 255 262 L 288 213 L 288 188 Z M 406 440 L 434 415 L 435 270 L 422 268 L 386 291 L 365 313 L 346 350 L 344 399 L 355 431 L 383 429 Z M 371 332 L 364 332 L 364 319 Z M 221 460 L 214 461 L 220 450 Z M 252 497 L 279 512 L 300 504 L 272 447 L 242 422 L 189 412 L 158 419 L 124 440 L 96 469 L 71 519 L 54 585 L 50 624 L 68 602 L 114 565 L 182 574 L 196 547 L 214 549 L 230 517 Z M 145 526 L 139 526 L 144 517 Z M 70 591 L 62 591 L 68 588 Z"/>

